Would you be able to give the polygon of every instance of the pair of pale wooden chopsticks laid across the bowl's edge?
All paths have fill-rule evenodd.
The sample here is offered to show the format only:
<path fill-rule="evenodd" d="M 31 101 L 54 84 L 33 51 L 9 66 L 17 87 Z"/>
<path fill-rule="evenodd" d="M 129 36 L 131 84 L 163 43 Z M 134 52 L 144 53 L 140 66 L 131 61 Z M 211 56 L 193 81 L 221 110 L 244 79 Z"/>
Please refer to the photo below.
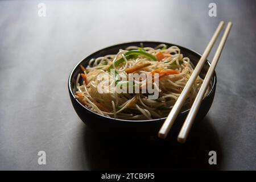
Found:
<path fill-rule="evenodd" d="M 174 124 L 175 119 L 176 119 L 177 115 L 179 114 L 181 107 L 183 106 L 189 92 L 192 89 L 192 85 L 196 81 L 197 76 L 199 76 L 199 73 L 205 64 L 205 60 L 207 59 L 210 51 L 212 50 L 212 47 L 213 47 L 214 43 L 216 42 L 218 35 L 220 35 L 220 32 L 221 32 L 223 26 L 224 26 L 224 21 L 221 21 L 220 24 L 218 25 L 216 31 L 214 32 L 212 39 L 210 39 L 210 42 L 208 43 L 207 48 L 205 48 L 205 51 L 204 51 L 202 57 L 200 58 L 199 62 L 197 63 L 196 68 L 194 69 L 191 77 L 189 78 L 189 80 L 188 80 L 187 84 L 185 85 L 183 91 L 181 92 L 179 98 L 175 102 L 174 107 L 172 107 L 172 110 L 168 114 L 166 121 L 164 121 L 163 126 L 159 130 L 159 133 L 158 133 L 159 138 L 164 139 L 167 137 L 167 134 L 170 131 L 172 125 Z M 222 49 L 224 48 L 226 39 L 228 38 L 229 32 L 231 30 L 231 27 L 232 27 L 232 23 L 229 22 L 228 26 L 226 27 L 226 30 L 224 32 L 224 35 L 221 38 L 221 42 L 218 45 L 217 51 L 213 57 L 212 64 L 210 65 L 210 67 L 208 69 L 208 72 L 204 78 L 203 84 L 201 85 L 199 93 L 197 93 L 195 101 L 193 102 L 193 105 L 192 105 L 192 107 L 187 115 L 187 118 L 185 119 L 185 122 L 183 123 L 180 133 L 177 137 L 177 141 L 180 143 L 184 143 L 188 137 L 189 131 L 191 130 L 193 121 L 196 118 L 196 114 L 199 110 L 199 107 L 203 100 L 204 94 L 208 88 L 210 79 L 212 78 L 214 69 L 218 63 L 218 59 L 220 58 Z"/>

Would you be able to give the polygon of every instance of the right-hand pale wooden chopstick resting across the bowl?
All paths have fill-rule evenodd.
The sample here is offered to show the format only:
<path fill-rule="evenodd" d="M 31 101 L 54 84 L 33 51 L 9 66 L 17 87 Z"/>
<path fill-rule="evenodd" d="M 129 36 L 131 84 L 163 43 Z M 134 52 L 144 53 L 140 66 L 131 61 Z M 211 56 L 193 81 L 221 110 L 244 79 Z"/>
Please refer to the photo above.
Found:
<path fill-rule="evenodd" d="M 199 90 L 199 93 L 197 94 L 197 96 L 195 98 L 195 101 L 193 102 L 193 105 L 192 105 L 192 107 L 191 107 L 191 109 L 188 113 L 188 116 L 185 119 L 185 122 L 184 122 L 184 124 L 183 124 L 183 126 L 180 130 L 180 133 L 177 137 L 177 141 L 180 142 L 180 143 L 185 143 L 185 141 L 187 140 L 189 131 L 191 130 L 191 127 L 193 125 L 193 121 L 195 120 L 196 114 L 199 110 L 201 102 L 203 101 L 204 94 L 205 94 L 205 92 L 208 88 L 208 85 L 209 85 L 210 80 L 212 78 L 212 75 L 214 73 L 214 69 L 216 68 L 216 65 L 218 63 L 218 59 L 220 58 L 222 49 L 225 46 L 226 39 L 228 38 L 228 35 L 229 35 L 229 32 L 230 32 L 231 28 L 232 28 L 232 23 L 229 22 L 228 26 L 226 26 L 226 30 L 225 30 L 222 38 L 221 38 L 221 42 L 218 45 L 217 51 L 216 51 L 216 53 L 213 57 L 212 64 L 210 65 L 210 67 L 208 69 L 208 72 L 207 72 L 207 75 L 204 78 L 204 81 L 203 81 L 203 84 L 202 84 L 202 86 Z"/>

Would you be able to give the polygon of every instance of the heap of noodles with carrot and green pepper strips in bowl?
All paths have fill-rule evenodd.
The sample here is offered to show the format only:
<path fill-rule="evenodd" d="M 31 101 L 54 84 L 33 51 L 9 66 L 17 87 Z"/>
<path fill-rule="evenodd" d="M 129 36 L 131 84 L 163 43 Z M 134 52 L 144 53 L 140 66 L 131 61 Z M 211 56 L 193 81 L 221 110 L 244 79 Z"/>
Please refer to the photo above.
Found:
<path fill-rule="evenodd" d="M 110 68 L 113 68 L 114 76 Z M 116 55 L 91 59 L 88 67 L 76 78 L 75 96 L 88 109 L 112 118 L 164 118 L 174 106 L 192 72 L 193 65 L 189 57 L 184 57 L 177 46 L 130 46 L 126 50 L 120 49 Z M 129 78 L 129 73 L 138 73 L 139 80 L 134 77 L 130 82 L 123 81 L 123 78 Z M 158 92 L 158 97 L 153 100 L 148 90 L 142 92 L 143 86 L 146 88 L 150 82 L 148 77 L 141 75 L 148 73 L 158 74 L 157 80 L 152 78 L 151 87 Z M 182 110 L 191 107 L 202 83 L 203 79 L 198 76 Z M 115 86 L 120 86 L 122 92 L 117 92 Z M 99 87 L 104 89 L 103 93 L 99 92 Z M 136 87 L 139 93 L 130 93 L 130 89 L 136 91 Z M 205 94 L 208 92 L 209 88 Z"/>

